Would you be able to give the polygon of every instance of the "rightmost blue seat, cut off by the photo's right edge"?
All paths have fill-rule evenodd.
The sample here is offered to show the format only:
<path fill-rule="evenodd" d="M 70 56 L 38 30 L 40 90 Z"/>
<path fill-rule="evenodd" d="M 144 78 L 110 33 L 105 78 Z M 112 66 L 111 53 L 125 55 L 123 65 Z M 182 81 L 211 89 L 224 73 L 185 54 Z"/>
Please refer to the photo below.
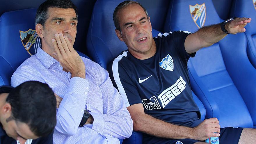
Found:
<path fill-rule="evenodd" d="M 244 0 L 234 0 L 230 17 L 251 17 L 252 21 L 246 25 L 246 38 L 247 38 L 247 55 L 249 57 L 250 62 L 252 65 L 256 68 L 256 1 L 244 1 Z M 255 75 L 255 73 L 254 73 Z M 253 81 L 255 81 L 254 79 Z M 239 83 L 239 80 L 234 81 L 234 83 Z M 256 127 L 256 97 L 255 95 L 255 88 L 254 91 L 247 91 L 246 86 L 243 86 L 241 89 L 238 88 L 238 90 L 242 94 L 242 97 L 250 111 L 250 114 L 253 118 L 253 124 L 254 127 Z M 248 97 L 251 96 L 251 97 Z"/>

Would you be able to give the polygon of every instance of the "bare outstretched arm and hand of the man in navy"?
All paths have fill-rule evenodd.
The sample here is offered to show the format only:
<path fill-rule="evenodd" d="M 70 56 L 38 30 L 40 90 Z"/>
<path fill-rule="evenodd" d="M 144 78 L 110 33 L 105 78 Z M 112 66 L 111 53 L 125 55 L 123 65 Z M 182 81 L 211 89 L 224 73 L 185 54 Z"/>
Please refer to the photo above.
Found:
<path fill-rule="evenodd" d="M 246 31 L 244 26 L 250 22 L 251 18 L 236 18 L 227 23 L 225 29 L 231 34 L 242 33 Z M 185 40 L 185 49 L 189 54 L 194 53 L 202 47 L 213 45 L 223 39 L 226 35 L 227 34 L 221 30 L 220 24 L 202 27 L 197 32 L 187 36 Z"/>

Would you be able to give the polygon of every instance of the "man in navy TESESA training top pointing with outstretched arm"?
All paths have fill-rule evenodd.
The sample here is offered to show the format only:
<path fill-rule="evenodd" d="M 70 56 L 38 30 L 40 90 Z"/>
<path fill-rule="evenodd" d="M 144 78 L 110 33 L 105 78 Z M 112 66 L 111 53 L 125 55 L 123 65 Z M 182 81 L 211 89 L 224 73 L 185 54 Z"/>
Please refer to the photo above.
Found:
<path fill-rule="evenodd" d="M 116 35 L 128 51 L 109 64 L 109 72 L 131 114 L 134 130 L 145 133 L 143 143 L 200 144 L 218 136 L 221 144 L 256 140 L 255 129 L 220 129 L 217 118 L 201 121 L 191 94 L 187 61 L 202 47 L 227 35 L 220 24 L 195 33 L 175 31 L 152 38 L 150 18 L 145 8 L 134 1 L 120 3 L 113 20 Z M 225 24 L 225 30 L 232 34 L 244 32 L 250 21 L 236 18 Z"/>

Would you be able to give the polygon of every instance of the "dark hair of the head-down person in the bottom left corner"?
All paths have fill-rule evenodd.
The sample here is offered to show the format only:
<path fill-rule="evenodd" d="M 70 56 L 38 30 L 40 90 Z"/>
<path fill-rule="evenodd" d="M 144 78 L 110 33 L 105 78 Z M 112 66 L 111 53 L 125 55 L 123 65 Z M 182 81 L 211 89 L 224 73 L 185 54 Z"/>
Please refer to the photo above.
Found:
<path fill-rule="evenodd" d="M 51 134 L 56 125 L 56 98 L 52 89 L 39 81 L 27 81 L 6 98 L 12 107 L 11 118 L 26 123 L 36 136 Z"/>

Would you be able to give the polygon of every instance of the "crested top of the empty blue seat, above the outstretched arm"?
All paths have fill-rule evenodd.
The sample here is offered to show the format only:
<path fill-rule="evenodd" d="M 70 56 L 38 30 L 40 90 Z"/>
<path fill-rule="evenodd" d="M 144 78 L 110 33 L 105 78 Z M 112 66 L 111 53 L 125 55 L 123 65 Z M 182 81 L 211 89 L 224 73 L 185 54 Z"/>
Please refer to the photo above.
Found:
<path fill-rule="evenodd" d="M 183 0 L 172 1 L 166 18 L 165 31 L 179 29 L 195 32 L 202 26 L 221 22 L 212 1 Z M 179 24 L 179 25 L 177 25 Z"/>

